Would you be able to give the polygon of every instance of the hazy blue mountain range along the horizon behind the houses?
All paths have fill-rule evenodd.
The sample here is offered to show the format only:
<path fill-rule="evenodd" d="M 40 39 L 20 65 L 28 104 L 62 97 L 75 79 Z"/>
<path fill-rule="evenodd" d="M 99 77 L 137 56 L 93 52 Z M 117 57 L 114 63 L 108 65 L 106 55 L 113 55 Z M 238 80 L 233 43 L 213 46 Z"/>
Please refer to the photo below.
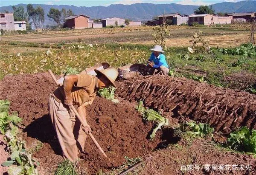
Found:
<path fill-rule="evenodd" d="M 62 8 L 71 9 L 74 14 L 86 14 L 91 19 L 105 19 L 108 17 L 120 17 L 130 20 L 151 20 L 152 17 L 165 13 L 180 13 L 180 14 L 192 14 L 199 6 L 180 5 L 175 3 L 170 4 L 152 4 L 152 3 L 135 3 L 131 5 L 115 4 L 110 6 L 93 6 L 93 7 L 78 7 L 67 5 L 45 5 L 45 4 L 32 4 L 34 8 L 41 6 L 45 12 L 45 25 L 52 24 L 53 22 L 47 17 L 47 13 L 50 8 Z M 23 6 L 26 9 L 26 4 L 17 4 L 17 6 Z M 256 11 L 256 0 L 239 1 L 237 3 L 224 2 L 210 5 L 215 12 L 252 12 Z M 2 6 L 0 11 L 5 10 L 10 13 L 13 11 L 12 6 Z"/>

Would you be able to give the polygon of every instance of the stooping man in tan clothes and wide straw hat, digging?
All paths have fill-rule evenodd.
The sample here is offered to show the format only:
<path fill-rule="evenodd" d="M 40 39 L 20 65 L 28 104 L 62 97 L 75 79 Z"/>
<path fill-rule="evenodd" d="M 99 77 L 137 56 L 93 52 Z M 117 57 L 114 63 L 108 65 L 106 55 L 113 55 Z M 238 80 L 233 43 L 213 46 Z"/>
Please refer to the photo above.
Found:
<path fill-rule="evenodd" d="M 56 89 L 49 99 L 49 116 L 57 133 L 63 156 L 70 161 L 77 160 L 79 153 L 84 151 L 86 134 L 90 132 L 85 107 L 92 104 L 99 88 L 110 85 L 116 87 L 114 84 L 118 76 L 116 68 L 94 71 L 97 73 L 96 76 L 84 72 L 65 76 L 63 85 Z M 64 96 L 61 91 L 64 92 Z M 78 113 L 86 127 L 82 127 L 75 114 L 68 110 L 71 104 L 78 105 Z"/>

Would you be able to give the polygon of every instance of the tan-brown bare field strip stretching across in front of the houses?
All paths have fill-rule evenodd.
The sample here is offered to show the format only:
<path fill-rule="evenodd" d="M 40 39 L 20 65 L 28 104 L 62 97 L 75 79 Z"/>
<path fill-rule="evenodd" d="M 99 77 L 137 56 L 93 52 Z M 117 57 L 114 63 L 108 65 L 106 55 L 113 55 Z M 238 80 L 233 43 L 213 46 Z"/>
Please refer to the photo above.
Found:
<path fill-rule="evenodd" d="M 189 46 L 189 40 L 198 29 L 182 29 L 172 30 L 170 36 L 166 39 L 167 46 Z M 250 39 L 249 31 L 224 31 L 214 28 L 202 29 L 206 39 L 210 41 L 212 46 L 237 46 L 241 43 L 248 42 Z M 3 41 L 21 41 L 21 42 L 78 42 L 82 39 L 85 43 L 133 43 L 133 44 L 153 44 L 154 39 L 151 31 L 132 31 L 132 32 L 113 32 L 111 34 L 85 34 L 82 31 L 67 34 L 34 34 L 0 37 Z"/>

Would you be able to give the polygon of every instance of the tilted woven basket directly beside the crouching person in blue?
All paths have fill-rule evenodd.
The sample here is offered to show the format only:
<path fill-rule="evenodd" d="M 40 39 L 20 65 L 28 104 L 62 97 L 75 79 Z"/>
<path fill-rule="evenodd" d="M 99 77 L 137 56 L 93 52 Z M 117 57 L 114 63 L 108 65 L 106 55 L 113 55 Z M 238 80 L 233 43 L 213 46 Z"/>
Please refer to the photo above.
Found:
<path fill-rule="evenodd" d="M 144 74 L 147 66 L 143 64 L 131 64 L 118 68 L 119 78 L 129 79 Z"/>

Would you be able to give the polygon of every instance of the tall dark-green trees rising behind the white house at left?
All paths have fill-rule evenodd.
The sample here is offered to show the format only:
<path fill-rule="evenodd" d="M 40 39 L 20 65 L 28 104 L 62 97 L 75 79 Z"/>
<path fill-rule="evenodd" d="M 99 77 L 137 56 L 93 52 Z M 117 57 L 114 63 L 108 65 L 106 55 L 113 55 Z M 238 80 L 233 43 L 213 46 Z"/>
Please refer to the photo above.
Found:
<path fill-rule="evenodd" d="M 27 30 L 32 30 L 32 26 L 36 29 L 41 24 L 44 24 L 44 9 L 41 6 L 34 8 L 32 4 L 28 4 L 26 6 L 26 11 L 23 6 L 12 6 L 13 9 L 13 17 L 15 21 L 25 21 Z M 9 11 L 4 11 L 5 13 L 9 13 Z M 55 22 L 58 26 L 60 26 L 61 22 L 64 22 L 66 17 L 69 17 L 73 14 L 71 9 L 62 8 L 61 11 L 57 8 L 50 8 L 47 16 L 50 20 Z"/>

